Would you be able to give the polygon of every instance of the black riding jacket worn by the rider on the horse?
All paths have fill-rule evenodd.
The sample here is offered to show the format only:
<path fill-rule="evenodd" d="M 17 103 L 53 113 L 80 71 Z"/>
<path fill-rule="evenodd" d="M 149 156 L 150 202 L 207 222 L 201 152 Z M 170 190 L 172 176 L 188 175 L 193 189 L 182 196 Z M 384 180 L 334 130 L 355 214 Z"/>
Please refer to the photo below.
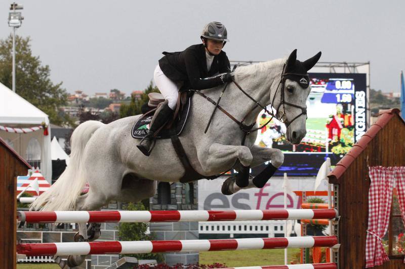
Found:
<path fill-rule="evenodd" d="M 207 70 L 207 58 L 204 44 L 192 45 L 180 52 L 163 52 L 165 55 L 159 60 L 159 67 L 163 73 L 173 81 L 184 82 L 181 90 L 209 89 L 222 85 L 216 74 L 230 72 L 230 64 L 225 51 L 214 57 L 211 69 Z"/>

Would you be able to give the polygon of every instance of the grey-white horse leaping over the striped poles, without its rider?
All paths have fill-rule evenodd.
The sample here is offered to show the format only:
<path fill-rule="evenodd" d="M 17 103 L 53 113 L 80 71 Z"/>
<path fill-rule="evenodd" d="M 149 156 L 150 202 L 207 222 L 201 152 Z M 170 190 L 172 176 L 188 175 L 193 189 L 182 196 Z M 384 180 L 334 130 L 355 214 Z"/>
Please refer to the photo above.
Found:
<path fill-rule="evenodd" d="M 251 129 L 247 130 L 248 125 L 242 121 L 231 120 L 217 111 L 204 133 L 214 105 L 199 94 L 192 95 L 189 118 L 179 139 L 197 173 L 210 177 L 232 167 L 240 172 L 269 160 L 274 168 L 282 165 L 284 154 L 279 149 L 255 145 L 257 128 L 253 126 L 262 109 L 271 105 L 276 112 L 270 114 L 286 124 L 286 136 L 291 143 L 298 144 L 305 136 L 306 101 L 310 92 L 307 71 L 319 60 L 320 52 L 304 62 L 296 58 L 295 49 L 288 58 L 238 67 L 232 73 L 234 83 L 227 85 L 221 106 L 233 119 L 252 123 Z M 222 88 L 218 86 L 203 92 L 215 100 Z M 131 129 L 139 117 L 127 117 L 106 125 L 98 121 L 80 124 L 71 137 L 69 166 L 51 188 L 31 204 L 31 209 L 97 210 L 110 200 L 138 202 L 152 197 L 156 181 L 179 182 L 185 169 L 170 139 L 157 140 L 149 156 L 137 149 L 139 140 L 131 137 Z M 269 178 L 265 178 L 264 184 Z M 241 189 L 235 180 L 233 176 L 225 181 L 223 193 L 232 194 Z M 86 182 L 89 191 L 80 195 Z M 258 187 L 256 185 L 250 179 L 244 188 Z M 89 239 L 85 223 L 79 223 L 78 235 L 79 241 L 95 239 Z M 70 261 L 80 264 L 83 258 L 74 256 Z"/>

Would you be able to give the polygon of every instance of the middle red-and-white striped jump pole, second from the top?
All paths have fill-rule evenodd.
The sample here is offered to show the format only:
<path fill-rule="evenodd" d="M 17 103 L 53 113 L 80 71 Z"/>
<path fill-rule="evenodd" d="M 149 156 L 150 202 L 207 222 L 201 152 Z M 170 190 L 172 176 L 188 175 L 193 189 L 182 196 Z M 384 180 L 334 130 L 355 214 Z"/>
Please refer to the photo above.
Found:
<path fill-rule="evenodd" d="M 237 249 L 271 249 L 301 247 L 333 247 L 336 236 L 279 238 L 242 238 L 170 241 L 108 241 L 18 244 L 17 253 L 27 256 L 130 254 L 151 252 L 217 251 Z"/>

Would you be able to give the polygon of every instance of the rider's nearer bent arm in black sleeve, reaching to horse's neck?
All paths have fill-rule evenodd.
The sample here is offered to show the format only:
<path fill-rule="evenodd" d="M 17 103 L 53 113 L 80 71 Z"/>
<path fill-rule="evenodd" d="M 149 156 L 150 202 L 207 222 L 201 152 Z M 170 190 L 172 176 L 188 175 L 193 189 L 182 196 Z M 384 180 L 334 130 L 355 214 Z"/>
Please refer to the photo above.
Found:
<path fill-rule="evenodd" d="M 214 88 L 218 85 L 224 84 L 225 81 L 221 76 L 214 78 L 201 79 L 201 74 L 198 69 L 198 59 L 192 52 L 186 53 L 184 57 L 188 80 L 190 81 L 191 88 L 194 90 L 203 90 Z"/>

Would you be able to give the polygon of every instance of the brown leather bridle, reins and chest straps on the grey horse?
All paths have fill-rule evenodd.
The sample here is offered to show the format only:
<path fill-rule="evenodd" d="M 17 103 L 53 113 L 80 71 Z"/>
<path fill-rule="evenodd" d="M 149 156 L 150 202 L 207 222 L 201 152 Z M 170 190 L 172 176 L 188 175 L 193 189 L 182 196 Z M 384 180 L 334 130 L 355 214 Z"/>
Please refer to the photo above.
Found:
<path fill-rule="evenodd" d="M 284 93 L 284 92 L 285 92 L 285 89 L 284 89 L 284 88 L 285 88 L 285 84 L 286 84 L 286 76 L 300 76 L 300 77 L 304 76 L 304 77 L 307 77 L 308 74 L 286 73 L 286 69 L 287 69 L 287 65 L 284 64 L 284 66 L 283 66 L 283 68 L 282 68 L 282 73 L 281 73 L 280 82 L 278 83 L 277 89 L 275 90 L 274 95 L 273 95 L 273 99 L 272 99 L 272 101 L 271 101 L 271 106 L 274 107 L 275 96 L 277 95 L 278 89 L 281 88 L 280 102 L 279 102 L 279 104 L 278 104 L 278 106 L 277 106 L 277 109 L 276 109 L 277 113 L 276 113 L 276 114 L 274 114 L 273 111 L 271 111 L 271 112 L 268 111 L 267 108 L 266 108 L 266 106 L 262 105 L 259 101 L 257 101 L 257 100 L 256 100 L 255 98 L 253 98 L 251 95 L 249 95 L 249 94 L 248 94 L 244 89 L 242 89 L 242 87 L 240 87 L 240 85 L 239 85 L 236 81 L 234 81 L 233 79 L 232 79 L 232 82 L 236 85 L 236 87 L 237 87 L 242 93 L 244 93 L 248 98 L 250 98 L 252 101 L 254 101 L 254 102 L 256 103 L 256 105 L 253 107 L 253 109 L 250 110 L 250 111 L 245 115 L 245 117 L 242 118 L 241 121 L 238 121 L 235 117 L 233 117 L 233 116 L 232 116 L 231 114 L 229 114 L 226 110 L 224 110 L 223 107 L 221 107 L 221 106 L 219 105 L 219 100 L 221 99 L 222 94 L 223 94 L 224 91 L 226 90 L 228 84 L 225 85 L 224 89 L 223 89 L 222 92 L 221 92 L 220 98 L 218 99 L 217 102 L 215 102 L 213 99 L 211 99 L 210 97 L 208 97 L 207 95 L 205 95 L 205 94 L 202 93 L 201 91 L 196 91 L 196 90 L 190 90 L 190 91 L 195 92 L 195 93 L 197 93 L 197 94 L 203 96 L 203 97 L 206 98 L 208 101 L 210 101 L 211 103 L 213 103 L 213 104 L 215 105 L 215 109 L 214 109 L 213 114 L 215 113 L 215 110 L 218 108 L 218 109 L 219 109 L 220 111 L 222 111 L 226 116 L 228 116 L 231 120 L 233 120 L 235 123 L 237 123 L 237 124 L 239 125 L 240 130 L 242 130 L 242 131 L 245 133 L 244 139 L 243 139 L 243 141 L 242 141 L 242 145 L 243 145 L 243 144 L 245 143 L 245 139 L 246 139 L 246 136 L 247 136 L 247 135 L 249 135 L 250 133 L 252 133 L 252 132 L 254 132 L 254 131 L 257 131 L 257 130 L 260 130 L 260 129 L 264 128 L 265 126 L 267 126 L 267 125 L 271 122 L 271 120 L 272 120 L 273 118 L 276 118 L 278 121 L 284 123 L 284 124 L 286 125 L 286 127 L 289 127 L 291 123 L 293 123 L 296 119 L 298 119 L 298 118 L 301 117 L 302 115 L 305 115 L 305 116 L 307 117 L 307 109 L 306 109 L 306 107 L 300 106 L 300 105 L 298 105 L 298 104 L 290 103 L 290 102 L 287 102 L 287 101 L 285 100 L 285 96 L 284 96 L 284 95 L 285 95 L 285 93 Z M 301 109 L 301 113 L 300 113 L 299 115 L 297 115 L 293 120 L 288 121 L 288 117 L 287 117 L 287 115 L 286 115 L 286 109 L 285 109 L 285 106 L 286 106 L 286 105 L 294 106 L 294 107 L 297 107 L 297 108 Z M 281 107 L 281 106 L 282 106 L 283 112 L 282 112 L 282 115 L 280 116 L 280 107 Z M 257 128 L 253 128 L 253 127 L 256 125 L 256 121 L 254 121 L 254 122 L 253 122 L 252 124 L 250 124 L 250 125 L 244 124 L 244 121 L 249 117 L 249 115 L 250 115 L 254 110 L 256 110 L 257 107 L 260 107 L 261 109 L 263 109 L 268 115 L 271 116 L 271 118 L 270 118 L 264 125 L 262 125 L 262 126 L 260 126 L 260 127 L 257 127 Z M 283 120 L 283 118 L 285 118 L 287 121 Z M 307 118 L 308 118 L 308 117 L 307 117 Z M 209 124 L 210 124 L 210 123 L 211 123 L 211 121 L 209 122 Z M 208 129 L 208 127 L 209 127 L 209 125 L 207 126 L 206 130 Z"/>

